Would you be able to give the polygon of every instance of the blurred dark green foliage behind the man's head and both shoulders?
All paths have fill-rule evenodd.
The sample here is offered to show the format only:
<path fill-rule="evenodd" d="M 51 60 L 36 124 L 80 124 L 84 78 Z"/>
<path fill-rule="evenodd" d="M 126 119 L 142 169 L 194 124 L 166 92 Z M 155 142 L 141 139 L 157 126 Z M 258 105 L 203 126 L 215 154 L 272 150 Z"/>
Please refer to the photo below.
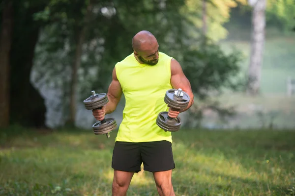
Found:
<path fill-rule="evenodd" d="M 93 9 L 85 20 L 85 9 L 89 3 L 92 3 Z M 236 54 L 224 55 L 212 43 L 200 44 L 200 39 L 204 37 L 194 36 L 199 34 L 199 29 L 183 12 L 185 6 L 184 0 L 162 3 L 155 0 L 51 0 L 43 11 L 34 15 L 35 20 L 45 26 L 35 50 L 33 81 L 41 81 L 61 91 L 66 111 L 71 81 L 68 75 L 74 60 L 76 36 L 84 25 L 90 24 L 78 71 L 77 94 L 80 101 L 88 97 L 93 89 L 97 92 L 108 90 L 115 64 L 133 52 L 131 39 L 144 29 L 156 36 L 161 51 L 181 62 L 193 90 L 200 98 L 206 98 L 206 90 L 233 89 L 235 85 L 230 77 L 238 72 L 238 57 L 235 57 Z M 198 12 L 191 10 L 190 15 L 197 16 Z M 202 47 L 196 48 L 199 46 Z M 202 70 L 201 77 L 191 74 L 199 74 Z"/>

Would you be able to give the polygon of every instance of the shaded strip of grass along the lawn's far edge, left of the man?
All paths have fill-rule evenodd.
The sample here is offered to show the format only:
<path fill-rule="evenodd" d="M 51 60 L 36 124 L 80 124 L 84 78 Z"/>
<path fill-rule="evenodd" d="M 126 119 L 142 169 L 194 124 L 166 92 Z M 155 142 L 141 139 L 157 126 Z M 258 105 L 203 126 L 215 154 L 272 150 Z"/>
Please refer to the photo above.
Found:
<path fill-rule="evenodd" d="M 95 135 L 92 129 L 46 129 L 34 130 L 18 126 L 0 130 L 0 149 L 23 147 L 71 147 L 83 149 L 105 149 L 113 147 L 118 128 L 107 139 L 106 135 Z"/>

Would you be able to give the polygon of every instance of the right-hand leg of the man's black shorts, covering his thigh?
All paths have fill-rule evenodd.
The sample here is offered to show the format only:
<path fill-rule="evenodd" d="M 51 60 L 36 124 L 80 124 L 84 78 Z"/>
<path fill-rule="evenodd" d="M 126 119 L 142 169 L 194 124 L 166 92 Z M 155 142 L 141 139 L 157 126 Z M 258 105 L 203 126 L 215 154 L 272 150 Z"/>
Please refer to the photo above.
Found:
<path fill-rule="evenodd" d="M 172 144 L 169 141 L 146 142 L 141 144 L 144 170 L 164 172 L 175 168 Z"/>

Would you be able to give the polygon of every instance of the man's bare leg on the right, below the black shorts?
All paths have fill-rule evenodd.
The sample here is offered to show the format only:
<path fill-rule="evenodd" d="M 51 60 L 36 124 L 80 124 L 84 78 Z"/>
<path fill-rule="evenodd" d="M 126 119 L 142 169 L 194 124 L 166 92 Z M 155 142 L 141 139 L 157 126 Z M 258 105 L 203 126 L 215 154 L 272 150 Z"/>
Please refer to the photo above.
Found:
<path fill-rule="evenodd" d="M 153 172 L 159 196 L 175 196 L 172 185 L 172 170 Z"/>

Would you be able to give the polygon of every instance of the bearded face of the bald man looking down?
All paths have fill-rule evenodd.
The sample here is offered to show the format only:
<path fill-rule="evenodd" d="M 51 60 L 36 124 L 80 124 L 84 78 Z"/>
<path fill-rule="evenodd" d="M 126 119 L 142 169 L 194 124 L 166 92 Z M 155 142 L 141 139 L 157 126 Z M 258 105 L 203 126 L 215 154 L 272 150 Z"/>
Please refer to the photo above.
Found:
<path fill-rule="evenodd" d="M 136 55 L 143 63 L 148 65 L 156 65 L 159 61 L 159 45 L 156 45 L 150 49 L 136 52 Z"/>

